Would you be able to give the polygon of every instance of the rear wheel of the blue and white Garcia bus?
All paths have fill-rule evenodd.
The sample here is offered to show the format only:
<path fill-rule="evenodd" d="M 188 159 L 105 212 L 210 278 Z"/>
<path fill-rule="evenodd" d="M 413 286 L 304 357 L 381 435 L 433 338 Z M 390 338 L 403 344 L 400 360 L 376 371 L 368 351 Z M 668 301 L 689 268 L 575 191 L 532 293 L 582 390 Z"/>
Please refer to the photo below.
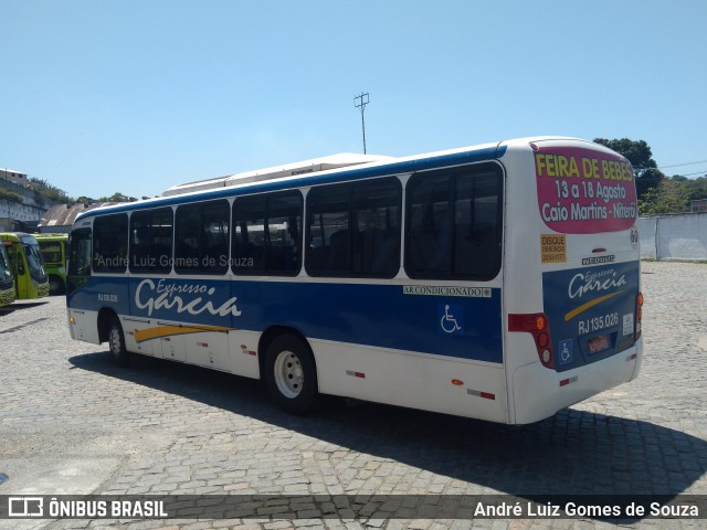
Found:
<path fill-rule="evenodd" d="M 289 414 L 306 414 L 319 401 L 317 369 L 309 346 L 281 335 L 265 353 L 265 383 L 273 401 Z"/>

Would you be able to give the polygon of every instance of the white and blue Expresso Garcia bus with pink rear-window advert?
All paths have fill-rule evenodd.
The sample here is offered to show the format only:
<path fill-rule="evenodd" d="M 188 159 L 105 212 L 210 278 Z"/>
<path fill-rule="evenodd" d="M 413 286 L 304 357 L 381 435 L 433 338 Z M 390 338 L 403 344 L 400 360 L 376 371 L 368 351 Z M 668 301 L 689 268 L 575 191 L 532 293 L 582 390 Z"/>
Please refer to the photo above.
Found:
<path fill-rule="evenodd" d="M 636 214 L 626 159 L 570 138 L 177 186 L 76 219 L 71 335 L 262 379 L 295 414 L 526 424 L 637 375 Z"/>

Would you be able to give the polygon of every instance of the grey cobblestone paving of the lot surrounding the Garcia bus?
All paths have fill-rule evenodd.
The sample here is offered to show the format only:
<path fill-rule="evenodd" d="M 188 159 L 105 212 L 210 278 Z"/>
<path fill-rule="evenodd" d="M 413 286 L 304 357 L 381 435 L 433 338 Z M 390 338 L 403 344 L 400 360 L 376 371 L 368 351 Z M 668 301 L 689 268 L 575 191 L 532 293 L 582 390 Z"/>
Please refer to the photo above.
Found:
<path fill-rule="evenodd" d="M 328 504 L 313 497 L 272 505 L 257 519 L 242 519 L 238 509 L 230 519 L 210 519 L 213 507 L 202 505 L 197 519 L 31 528 L 618 528 L 591 518 L 472 519 L 469 511 L 463 519 L 420 518 L 421 497 L 413 496 L 425 496 L 425 509 L 434 510 L 432 496 L 707 495 L 707 265 L 642 267 L 639 379 L 520 427 L 338 400 L 293 417 L 256 381 L 151 359 L 113 367 L 105 344 L 70 339 L 62 298 L 15 304 L 0 310 L 0 471 L 9 476 L 0 495 L 29 486 L 24 463 L 51 464 L 46 474 L 55 476 L 48 479 L 59 485 L 78 480 L 72 458 L 110 458 L 86 494 L 327 494 Z M 35 324 L 19 327 L 27 322 Z M 369 501 L 386 494 L 411 502 L 395 512 Z M 319 518 L 335 510 L 338 517 Z M 283 511 L 299 518 L 278 518 Z M 643 519 L 630 528 L 703 523 Z M 14 527 L 0 521 L 4 528 Z"/>

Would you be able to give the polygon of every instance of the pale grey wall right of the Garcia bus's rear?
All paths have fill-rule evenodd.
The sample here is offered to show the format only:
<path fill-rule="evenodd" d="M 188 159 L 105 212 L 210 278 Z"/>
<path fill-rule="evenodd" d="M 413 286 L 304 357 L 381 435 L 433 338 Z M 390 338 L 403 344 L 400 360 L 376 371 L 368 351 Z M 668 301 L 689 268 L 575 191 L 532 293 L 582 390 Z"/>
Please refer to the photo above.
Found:
<path fill-rule="evenodd" d="M 639 218 L 641 257 L 707 261 L 707 213 Z"/>

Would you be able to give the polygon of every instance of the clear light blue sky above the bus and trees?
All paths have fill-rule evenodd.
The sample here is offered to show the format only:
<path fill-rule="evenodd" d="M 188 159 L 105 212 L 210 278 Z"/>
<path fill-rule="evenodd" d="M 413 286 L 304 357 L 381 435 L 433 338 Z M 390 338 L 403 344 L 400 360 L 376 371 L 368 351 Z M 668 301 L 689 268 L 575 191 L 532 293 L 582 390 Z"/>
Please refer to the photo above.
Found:
<path fill-rule="evenodd" d="M 704 0 L 0 0 L 0 168 L 70 197 L 338 152 L 645 140 L 707 174 Z M 698 163 L 692 163 L 698 162 Z"/>

